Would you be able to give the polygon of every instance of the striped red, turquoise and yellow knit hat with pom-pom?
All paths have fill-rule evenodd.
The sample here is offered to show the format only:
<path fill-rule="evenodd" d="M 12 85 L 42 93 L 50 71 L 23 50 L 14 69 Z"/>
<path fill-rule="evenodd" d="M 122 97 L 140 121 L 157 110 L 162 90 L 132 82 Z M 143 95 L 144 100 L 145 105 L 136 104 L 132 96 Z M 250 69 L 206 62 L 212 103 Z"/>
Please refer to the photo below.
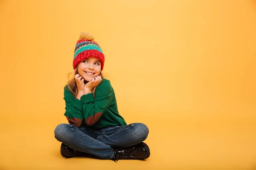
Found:
<path fill-rule="evenodd" d="M 76 69 L 76 66 L 79 62 L 87 59 L 89 57 L 95 57 L 101 62 L 101 70 L 103 70 L 105 57 L 102 52 L 102 49 L 99 47 L 99 44 L 93 41 L 93 36 L 88 32 L 81 32 L 79 40 L 76 42 L 76 48 L 74 51 L 73 59 L 73 68 Z"/>

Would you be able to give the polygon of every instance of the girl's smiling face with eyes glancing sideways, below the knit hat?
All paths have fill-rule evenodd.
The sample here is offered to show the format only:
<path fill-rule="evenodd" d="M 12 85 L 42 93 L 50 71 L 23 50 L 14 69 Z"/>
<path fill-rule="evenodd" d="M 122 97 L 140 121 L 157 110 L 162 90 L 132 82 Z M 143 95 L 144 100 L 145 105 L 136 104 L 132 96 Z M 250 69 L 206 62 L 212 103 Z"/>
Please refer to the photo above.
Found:
<path fill-rule="evenodd" d="M 78 65 L 78 74 L 87 82 L 90 82 L 94 77 L 99 76 L 101 71 L 101 62 L 95 57 L 90 57 L 81 61 Z"/>

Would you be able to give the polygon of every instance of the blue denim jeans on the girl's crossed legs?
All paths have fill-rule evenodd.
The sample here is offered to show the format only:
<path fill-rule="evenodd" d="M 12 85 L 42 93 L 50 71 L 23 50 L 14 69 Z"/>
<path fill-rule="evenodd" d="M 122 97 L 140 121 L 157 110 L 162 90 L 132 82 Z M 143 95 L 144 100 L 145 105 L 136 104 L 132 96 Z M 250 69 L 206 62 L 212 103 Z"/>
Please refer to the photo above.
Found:
<path fill-rule="evenodd" d="M 144 141 L 148 136 L 148 127 L 142 123 L 125 126 L 93 129 L 60 124 L 55 130 L 55 138 L 74 150 L 90 153 L 102 159 L 112 159 L 112 147 L 129 147 Z"/>

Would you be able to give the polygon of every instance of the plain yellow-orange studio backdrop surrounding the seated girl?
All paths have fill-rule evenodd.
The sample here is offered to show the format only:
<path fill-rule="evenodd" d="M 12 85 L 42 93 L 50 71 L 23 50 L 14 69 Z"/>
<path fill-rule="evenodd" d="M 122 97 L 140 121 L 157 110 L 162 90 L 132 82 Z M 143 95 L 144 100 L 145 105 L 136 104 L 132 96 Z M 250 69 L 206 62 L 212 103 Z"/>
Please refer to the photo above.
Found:
<path fill-rule="evenodd" d="M 0 0 L 0 169 L 256 169 L 255 0 Z M 81 31 L 105 53 L 146 161 L 64 159 L 63 87 Z"/>

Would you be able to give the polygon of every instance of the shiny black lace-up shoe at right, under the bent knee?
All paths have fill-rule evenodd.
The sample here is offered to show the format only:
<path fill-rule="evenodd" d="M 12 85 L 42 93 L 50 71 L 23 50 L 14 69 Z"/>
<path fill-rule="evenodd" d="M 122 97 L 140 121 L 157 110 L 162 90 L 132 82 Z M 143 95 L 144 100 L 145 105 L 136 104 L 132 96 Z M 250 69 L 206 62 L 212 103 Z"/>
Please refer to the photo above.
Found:
<path fill-rule="evenodd" d="M 149 147 L 144 142 L 131 147 L 116 148 L 114 152 L 113 161 L 118 161 L 118 159 L 147 159 L 150 156 Z"/>

